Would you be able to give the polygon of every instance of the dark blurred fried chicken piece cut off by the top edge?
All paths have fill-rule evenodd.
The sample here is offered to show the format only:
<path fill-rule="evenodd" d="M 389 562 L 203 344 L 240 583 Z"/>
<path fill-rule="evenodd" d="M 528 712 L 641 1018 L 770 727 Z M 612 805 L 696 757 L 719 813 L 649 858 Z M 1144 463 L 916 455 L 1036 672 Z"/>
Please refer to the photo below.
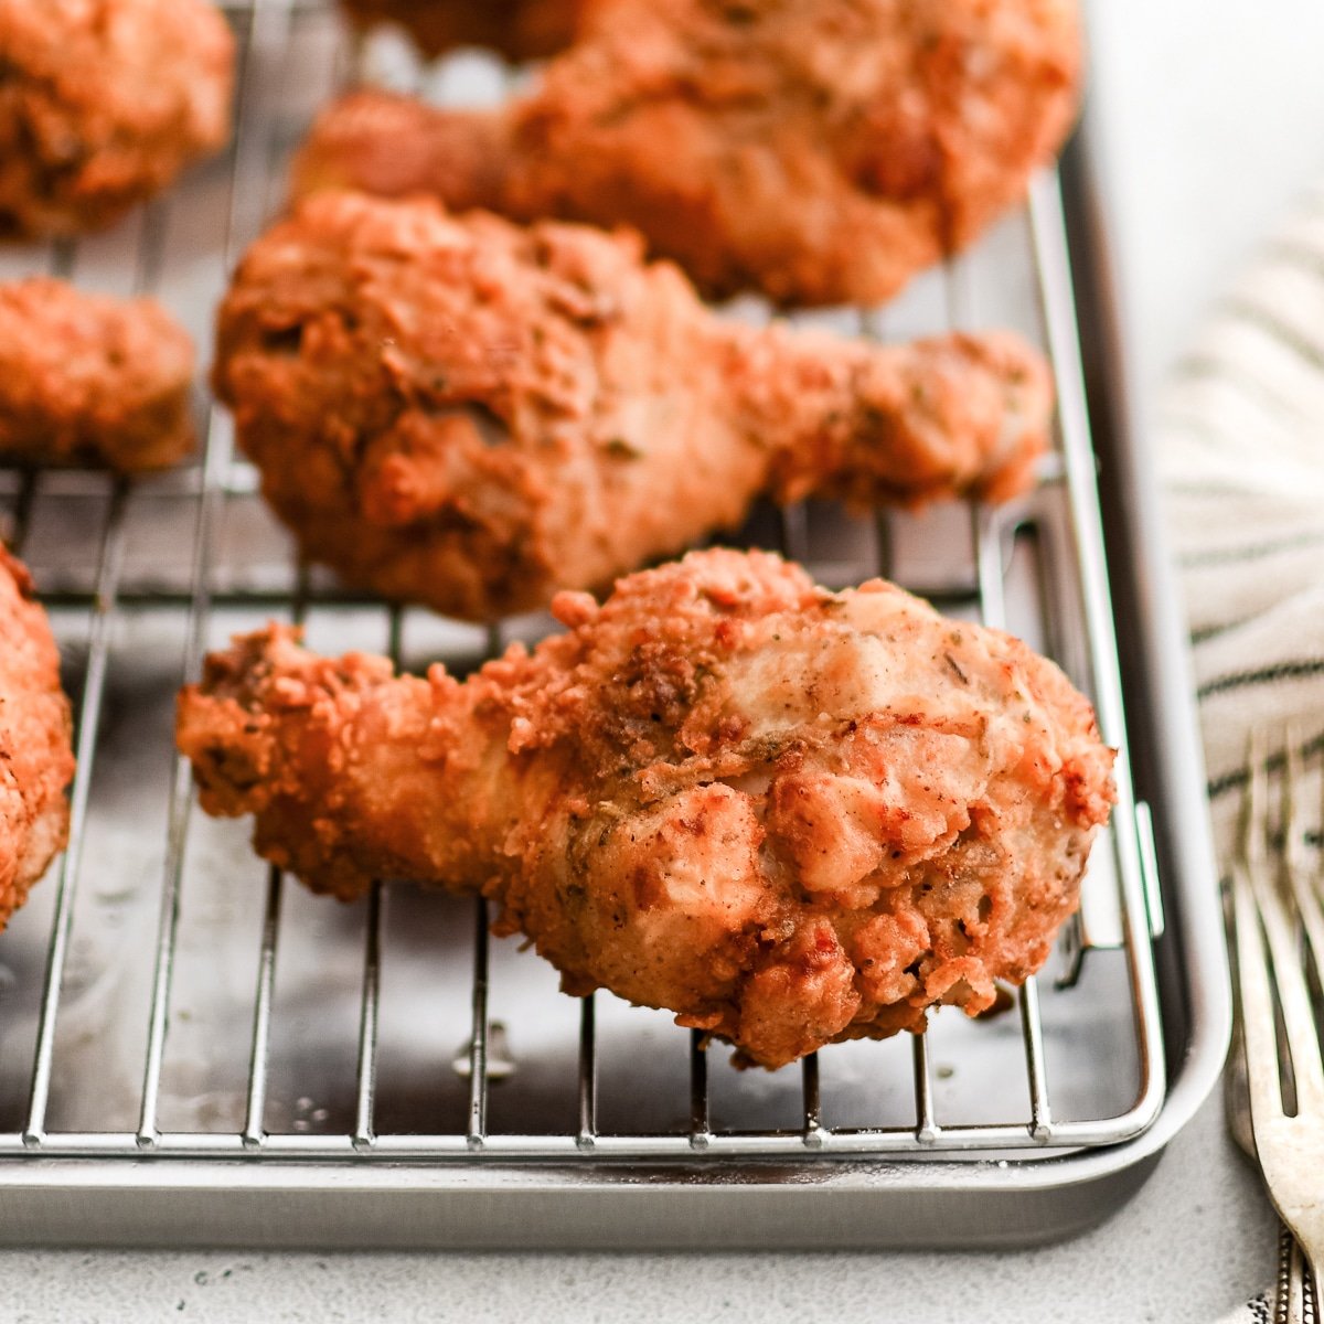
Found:
<path fill-rule="evenodd" d="M 429 58 L 489 46 L 516 64 L 564 50 L 594 3 L 601 0 L 343 0 L 359 28 L 400 24 Z"/>

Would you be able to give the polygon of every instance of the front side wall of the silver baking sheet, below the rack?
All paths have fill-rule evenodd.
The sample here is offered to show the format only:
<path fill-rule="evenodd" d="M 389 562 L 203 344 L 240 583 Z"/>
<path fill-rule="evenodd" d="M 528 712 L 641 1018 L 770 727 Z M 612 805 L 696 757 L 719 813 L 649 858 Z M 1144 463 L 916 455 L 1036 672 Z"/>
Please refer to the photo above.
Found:
<path fill-rule="evenodd" d="M 1129 1147 L 1121 1147 L 1128 1149 Z M 1099 1151 L 1012 1164 L 981 1182 L 980 1230 L 965 1246 L 1061 1239 L 1116 1210 L 1157 1155 Z M 481 1170 L 350 1165 L 245 1166 L 93 1160 L 23 1165 L 0 1201 L 0 1242 L 36 1246 L 245 1249 L 865 1250 L 951 1247 L 969 1222 L 970 1165 L 851 1164 L 792 1182 L 732 1185 L 712 1169 L 585 1172 L 584 1165 Z M 994 1168 L 993 1162 L 980 1166 Z M 8 1176 L 8 1174 L 7 1174 Z M 609 1180 L 594 1180 L 594 1178 Z M 135 1196 L 140 1198 L 134 1198 Z M 205 1198 L 209 1213 L 200 1218 Z M 78 1229 L 70 1235 L 70 1229 Z M 220 1229 L 220 1230 L 218 1230 Z M 387 1238 L 381 1233 L 387 1231 Z"/>

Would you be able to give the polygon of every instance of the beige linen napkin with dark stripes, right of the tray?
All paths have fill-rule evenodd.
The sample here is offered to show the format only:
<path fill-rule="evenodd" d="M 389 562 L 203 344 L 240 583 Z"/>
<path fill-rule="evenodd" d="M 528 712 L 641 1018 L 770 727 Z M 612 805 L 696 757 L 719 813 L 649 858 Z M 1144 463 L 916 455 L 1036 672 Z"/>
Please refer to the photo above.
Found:
<path fill-rule="evenodd" d="M 1226 869 L 1253 728 L 1272 749 L 1295 723 L 1316 777 L 1305 800 L 1321 801 L 1324 185 L 1214 308 L 1156 421 Z M 1316 841 L 1321 813 L 1312 820 Z M 1279 1317 L 1275 1298 L 1267 1287 L 1230 1320 L 1267 1324 Z"/>

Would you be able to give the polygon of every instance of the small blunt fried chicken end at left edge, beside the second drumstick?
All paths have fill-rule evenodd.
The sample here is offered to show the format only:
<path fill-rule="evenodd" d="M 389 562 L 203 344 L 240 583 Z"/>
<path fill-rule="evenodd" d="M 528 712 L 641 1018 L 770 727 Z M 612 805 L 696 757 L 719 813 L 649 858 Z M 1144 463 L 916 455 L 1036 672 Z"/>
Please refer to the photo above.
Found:
<path fill-rule="evenodd" d="M 0 463 L 162 469 L 193 446 L 193 344 L 154 299 L 0 285 Z"/>

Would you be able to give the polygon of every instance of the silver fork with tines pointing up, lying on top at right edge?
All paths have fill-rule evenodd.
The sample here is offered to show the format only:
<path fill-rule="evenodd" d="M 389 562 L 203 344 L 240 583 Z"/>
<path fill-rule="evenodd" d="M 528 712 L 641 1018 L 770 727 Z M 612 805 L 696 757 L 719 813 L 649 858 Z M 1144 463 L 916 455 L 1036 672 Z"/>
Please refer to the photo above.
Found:
<path fill-rule="evenodd" d="M 1270 1197 L 1319 1283 L 1324 1264 L 1324 1062 L 1305 963 L 1313 964 L 1316 982 L 1324 984 L 1324 908 L 1317 871 L 1308 870 L 1304 858 L 1298 805 L 1301 755 L 1294 732 L 1288 732 L 1286 747 L 1284 847 L 1278 853 L 1271 850 L 1263 739 L 1258 732 L 1251 736 L 1245 833 L 1233 866 L 1233 907 L 1255 1151 Z M 1303 951 L 1303 932 L 1308 951 Z M 1275 993 L 1286 1061 L 1279 1051 Z M 1284 1075 L 1294 1087 L 1291 1113 L 1283 1100 Z M 1305 1308 L 1303 1303 L 1299 1317 L 1308 1317 Z M 1282 1313 L 1280 1305 L 1280 1317 L 1292 1316 Z"/>

